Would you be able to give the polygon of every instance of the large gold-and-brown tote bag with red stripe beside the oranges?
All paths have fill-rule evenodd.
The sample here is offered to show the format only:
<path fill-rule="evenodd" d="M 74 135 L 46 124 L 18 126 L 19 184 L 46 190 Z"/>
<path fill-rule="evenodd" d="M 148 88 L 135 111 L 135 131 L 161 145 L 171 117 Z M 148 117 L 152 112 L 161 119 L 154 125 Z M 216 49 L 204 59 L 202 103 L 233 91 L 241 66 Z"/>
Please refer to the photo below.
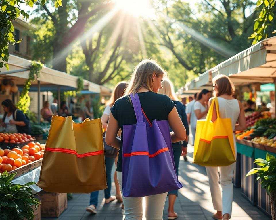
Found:
<path fill-rule="evenodd" d="M 37 186 L 61 193 L 107 188 L 100 118 L 74 123 L 53 115 Z"/>

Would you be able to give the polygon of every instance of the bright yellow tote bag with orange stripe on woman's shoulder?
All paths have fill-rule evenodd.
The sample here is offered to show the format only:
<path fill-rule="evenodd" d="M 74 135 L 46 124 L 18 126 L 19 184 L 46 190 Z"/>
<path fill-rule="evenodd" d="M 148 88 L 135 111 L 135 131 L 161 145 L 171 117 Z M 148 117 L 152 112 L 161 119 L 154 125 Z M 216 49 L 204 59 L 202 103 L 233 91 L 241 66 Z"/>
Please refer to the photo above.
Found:
<path fill-rule="evenodd" d="M 212 122 L 214 103 L 218 117 Z M 220 118 L 218 108 L 214 98 L 206 119 L 196 123 L 193 158 L 201 166 L 228 166 L 236 161 L 231 119 Z"/>

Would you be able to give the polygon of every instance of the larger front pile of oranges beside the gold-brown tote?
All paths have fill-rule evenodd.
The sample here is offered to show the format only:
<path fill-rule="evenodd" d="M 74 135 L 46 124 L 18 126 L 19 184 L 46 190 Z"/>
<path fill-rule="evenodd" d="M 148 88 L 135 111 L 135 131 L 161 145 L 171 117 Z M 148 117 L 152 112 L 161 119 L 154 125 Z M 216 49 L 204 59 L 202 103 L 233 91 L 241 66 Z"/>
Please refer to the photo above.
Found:
<path fill-rule="evenodd" d="M 15 170 L 20 166 L 43 158 L 44 149 L 45 144 L 40 144 L 39 142 L 30 142 L 21 149 L 3 150 L 0 148 L 0 173 L 3 173 L 5 170 L 8 172 Z"/>

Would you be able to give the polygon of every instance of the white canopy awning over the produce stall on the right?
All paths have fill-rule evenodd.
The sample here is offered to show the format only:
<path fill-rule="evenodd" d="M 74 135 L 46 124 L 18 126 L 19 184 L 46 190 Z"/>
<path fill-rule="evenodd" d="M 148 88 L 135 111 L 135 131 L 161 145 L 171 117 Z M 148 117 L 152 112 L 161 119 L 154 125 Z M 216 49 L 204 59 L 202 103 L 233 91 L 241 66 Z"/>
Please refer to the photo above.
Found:
<path fill-rule="evenodd" d="M 276 78 L 276 37 L 262 40 L 204 72 L 185 85 L 185 90 L 210 86 L 219 74 L 229 76 L 235 85 L 274 82 Z"/>

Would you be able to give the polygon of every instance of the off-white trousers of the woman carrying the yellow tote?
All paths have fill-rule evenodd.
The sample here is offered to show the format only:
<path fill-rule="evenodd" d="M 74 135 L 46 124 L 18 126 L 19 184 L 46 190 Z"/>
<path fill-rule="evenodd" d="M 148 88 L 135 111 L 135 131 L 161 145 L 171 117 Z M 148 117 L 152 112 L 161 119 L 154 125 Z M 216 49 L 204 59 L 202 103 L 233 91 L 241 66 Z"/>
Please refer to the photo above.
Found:
<path fill-rule="evenodd" d="M 236 163 L 220 167 L 206 166 L 214 209 L 222 211 L 222 215 L 228 213 L 230 217 L 233 202 L 232 179 L 234 177 L 235 166 Z M 222 197 L 219 184 L 222 188 Z"/>

